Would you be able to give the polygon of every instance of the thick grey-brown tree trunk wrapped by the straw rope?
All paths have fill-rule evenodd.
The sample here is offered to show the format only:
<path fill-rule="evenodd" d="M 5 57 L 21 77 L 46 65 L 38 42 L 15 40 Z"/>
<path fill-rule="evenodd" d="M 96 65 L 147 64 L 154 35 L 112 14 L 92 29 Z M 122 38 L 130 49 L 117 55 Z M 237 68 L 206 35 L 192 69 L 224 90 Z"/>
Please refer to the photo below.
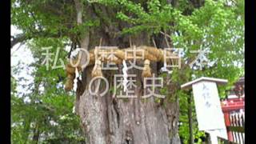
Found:
<path fill-rule="evenodd" d="M 75 0 L 75 2 L 78 2 Z M 78 10 L 78 24 L 82 22 L 81 6 Z M 109 11 L 104 11 L 107 13 Z M 79 15 L 80 14 L 80 15 Z M 80 18 L 79 18 L 80 17 Z M 120 23 L 122 25 L 122 23 Z M 119 26 L 120 28 L 122 26 Z M 130 40 L 135 46 L 154 46 L 150 36 L 146 33 L 138 34 L 136 38 L 116 37 L 114 26 L 102 26 L 101 29 L 90 30 L 81 38 L 82 48 L 94 49 L 99 45 L 99 39 L 102 38 L 102 46 L 118 46 L 126 48 L 130 46 Z M 90 35 L 90 38 L 89 38 Z M 89 39 L 89 41 L 88 41 Z M 166 47 L 162 36 L 158 36 L 156 44 L 158 47 Z M 158 75 L 158 63 L 151 63 L 153 73 Z M 102 70 L 104 76 L 108 79 L 110 86 L 113 86 L 114 74 L 122 74 L 122 66 L 118 70 Z M 166 101 L 166 106 L 155 102 L 155 97 L 142 99 L 143 81 L 142 70 L 129 70 L 128 74 L 137 74 L 135 93 L 138 98 L 114 98 L 112 93 L 108 92 L 102 97 L 90 94 L 88 90 L 91 80 L 91 70 L 93 66 L 86 67 L 83 70 L 82 82 L 78 80 L 76 112 L 82 120 L 82 128 L 86 134 L 87 143 L 91 144 L 178 144 L 178 99 Z M 100 90 L 105 89 L 102 86 Z M 170 87 L 171 89 L 171 87 Z"/>

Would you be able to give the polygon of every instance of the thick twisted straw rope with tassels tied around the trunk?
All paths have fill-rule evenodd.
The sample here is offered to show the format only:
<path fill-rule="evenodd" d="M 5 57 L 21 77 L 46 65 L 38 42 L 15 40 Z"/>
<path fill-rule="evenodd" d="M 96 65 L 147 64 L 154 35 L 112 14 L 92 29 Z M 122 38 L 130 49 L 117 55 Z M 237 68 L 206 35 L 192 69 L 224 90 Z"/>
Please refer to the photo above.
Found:
<path fill-rule="evenodd" d="M 126 52 L 128 50 L 130 53 L 132 50 L 138 50 L 137 53 L 130 54 Z M 142 53 L 140 51 L 143 51 Z M 87 66 L 93 66 L 94 69 L 92 70 L 92 77 L 102 76 L 102 62 L 114 62 L 115 64 L 122 64 L 122 60 L 133 60 L 134 56 L 136 57 L 136 61 L 144 61 L 144 67 L 142 71 L 142 77 L 148 78 L 151 77 L 151 69 L 150 69 L 150 62 L 164 62 L 164 50 L 158 49 L 156 47 L 150 46 L 138 46 L 138 47 L 129 47 L 126 49 L 104 49 L 99 50 L 96 47 L 94 50 L 89 51 L 90 54 L 90 62 Z M 144 57 L 143 57 L 144 56 Z M 177 54 L 173 54 L 170 51 L 166 51 L 166 57 L 178 57 Z M 72 63 L 80 62 L 81 58 L 73 59 Z M 167 63 L 172 63 L 171 59 L 166 59 Z M 74 77 L 75 77 L 75 69 L 78 68 L 78 71 L 82 71 L 82 66 L 79 63 L 77 67 L 72 66 L 70 63 L 66 64 L 66 74 L 67 74 L 67 81 L 65 84 L 65 89 L 67 91 L 72 90 L 74 85 Z"/>

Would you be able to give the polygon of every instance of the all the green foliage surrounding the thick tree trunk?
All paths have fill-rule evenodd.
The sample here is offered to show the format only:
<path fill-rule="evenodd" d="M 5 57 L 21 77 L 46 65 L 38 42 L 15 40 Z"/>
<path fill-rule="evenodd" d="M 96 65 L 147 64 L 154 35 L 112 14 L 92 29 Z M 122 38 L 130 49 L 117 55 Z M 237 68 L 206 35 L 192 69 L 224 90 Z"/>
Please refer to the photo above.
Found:
<path fill-rule="evenodd" d="M 74 97 L 63 90 L 66 74 L 63 69 L 46 70 L 41 66 L 43 61 L 42 47 L 51 46 L 50 53 L 66 62 L 66 46 L 70 41 L 81 38 L 82 34 L 106 27 L 121 27 L 119 36 L 140 34 L 146 32 L 150 37 L 166 31 L 170 34 L 172 44 L 183 48 L 185 55 L 182 61 L 186 63 L 181 70 L 175 69 L 170 75 L 171 81 L 178 86 L 202 76 L 225 78 L 227 86 L 219 86 L 220 97 L 226 96 L 233 83 L 244 74 L 244 1 L 236 0 L 231 5 L 224 1 L 206 0 L 200 7 L 185 0 L 168 4 L 160 0 L 83 0 L 83 23 L 76 22 L 76 10 L 73 1 L 52 0 L 12 0 L 11 22 L 26 35 L 27 46 L 37 58 L 30 67 L 34 67 L 34 83 L 28 84 L 29 94 L 17 94 L 18 79 L 11 78 L 12 100 L 12 142 L 25 143 L 32 141 L 35 132 L 46 136 L 45 142 L 62 142 L 63 138 L 70 141 L 82 138 L 77 116 L 72 113 Z M 105 14 L 97 6 L 105 6 L 110 15 Z M 91 7 L 94 13 L 91 14 Z M 96 7 L 96 8 L 95 8 Z M 125 23 L 124 27 L 120 23 Z M 119 25 L 120 24 L 120 25 Z M 190 50 L 199 48 L 210 49 L 207 54 L 213 66 L 204 66 L 202 70 L 191 70 L 187 66 L 197 54 Z M 54 56 L 52 57 L 54 60 Z M 58 61 L 59 62 L 59 61 Z M 58 63 L 60 64 L 60 63 Z M 238 66 L 238 64 L 240 66 Z M 50 66 L 53 62 L 50 62 Z M 20 69 L 13 67 L 12 70 Z M 21 69 L 22 70 L 22 69 Z M 17 71 L 14 73 L 18 73 Z M 166 78 L 166 74 L 162 74 Z M 42 88 L 40 90 L 39 88 Z M 110 89 L 113 92 L 113 89 Z M 161 94 L 168 95 L 170 100 L 179 99 L 180 122 L 179 134 L 187 142 L 188 136 L 188 93 L 182 90 L 170 95 L 170 90 L 163 87 Z M 30 98 L 30 102 L 25 99 Z M 146 100 L 145 100 L 146 101 Z M 159 99 L 156 99 L 159 102 Z M 194 106 L 194 103 L 192 103 Z M 200 137 L 195 112 L 193 110 L 194 138 Z M 58 123 L 53 126 L 50 121 Z"/>

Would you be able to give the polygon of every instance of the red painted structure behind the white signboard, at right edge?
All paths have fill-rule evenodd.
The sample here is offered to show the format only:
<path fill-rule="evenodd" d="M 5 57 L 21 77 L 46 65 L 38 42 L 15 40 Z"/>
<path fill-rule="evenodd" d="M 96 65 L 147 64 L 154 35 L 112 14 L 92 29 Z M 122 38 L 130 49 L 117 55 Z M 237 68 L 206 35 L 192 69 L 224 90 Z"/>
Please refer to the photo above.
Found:
<path fill-rule="evenodd" d="M 230 91 L 230 95 L 225 100 L 222 100 L 222 111 L 224 113 L 226 126 L 231 126 L 230 114 L 239 113 L 245 109 L 245 95 L 244 95 L 244 78 L 240 78 L 235 83 L 234 89 Z M 227 131 L 228 139 L 234 142 L 231 131 Z"/>

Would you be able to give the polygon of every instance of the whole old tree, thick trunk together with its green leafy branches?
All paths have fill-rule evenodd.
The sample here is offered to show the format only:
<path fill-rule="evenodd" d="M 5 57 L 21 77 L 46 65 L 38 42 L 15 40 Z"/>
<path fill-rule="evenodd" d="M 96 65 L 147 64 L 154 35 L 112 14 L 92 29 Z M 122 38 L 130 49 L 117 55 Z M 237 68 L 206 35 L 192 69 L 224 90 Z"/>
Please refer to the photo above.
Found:
<path fill-rule="evenodd" d="M 170 74 L 162 73 L 160 72 L 162 62 L 150 63 L 152 73 L 164 79 L 164 87 L 158 90 L 158 94 L 164 94 L 166 98 L 140 98 L 143 95 L 142 70 L 136 69 L 128 70 L 128 74 L 137 74 L 137 87 L 134 90 L 138 98 L 112 97 L 114 74 L 122 74 L 122 64 L 118 65 L 118 70 L 102 70 L 103 75 L 110 82 L 110 90 L 103 97 L 97 97 L 88 91 L 93 66 L 87 66 L 83 70 L 82 80 L 78 80 L 74 106 L 88 143 L 180 143 L 178 122 L 182 114 L 179 114 L 179 110 L 186 107 L 184 101 L 190 94 L 180 90 L 181 84 L 201 76 L 226 78 L 229 79 L 229 85 L 220 87 L 220 93 L 224 96 L 232 83 L 243 74 L 244 2 L 242 0 L 12 0 L 11 2 L 11 23 L 18 30 L 22 30 L 21 34 L 12 36 L 11 47 L 26 42 L 34 58 L 38 58 L 38 63 L 44 59 L 41 55 L 42 47 L 49 46 L 55 51 L 58 47 L 61 48 L 59 57 L 65 59 L 64 62 L 67 62 L 66 58 L 70 57 L 70 52 L 76 48 L 92 50 L 99 44 L 118 46 L 120 49 L 131 45 L 154 46 L 158 49 L 182 48 L 181 69 L 172 69 Z M 69 48 L 68 51 L 65 51 L 66 47 Z M 197 63 L 190 68 L 189 63 L 197 58 L 197 54 L 191 54 L 190 50 L 198 49 L 211 51 L 206 55 L 206 61 L 210 64 L 201 66 Z M 83 55 L 82 58 L 85 59 L 85 56 Z M 64 70 L 52 70 L 53 73 L 50 71 L 50 74 L 39 65 L 36 63 L 33 65 L 35 79 L 30 103 L 32 105 L 34 102 L 33 106 L 39 106 L 37 102 L 40 106 L 47 102 L 47 106 L 48 104 L 54 106 L 57 103 L 56 105 L 60 107 L 56 114 L 62 114 L 65 108 L 61 105 L 65 106 L 67 101 L 59 102 L 56 97 L 55 99 L 50 97 L 50 94 L 59 93 L 60 90 L 54 88 L 57 83 L 64 89 L 63 83 L 66 81 Z M 140 63 L 138 65 L 142 66 Z M 199 67 L 202 67 L 202 70 L 199 70 Z M 46 78 L 47 76 L 58 81 L 51 81 L 50 78 Z M 45 89 L 39 90 L 40 86 L 44 86 Z M 37 94 L 45 97 L 39 97 Z M 61 95 L 65 94 L 61 93 Z M 12 100 L 14 102 L 12 122 L 22 120 L 25 122 L 26 117 L 22 119 L 19 117 L 22 113 L 19 116 L 14 113 L 15 105 L 22 101 L 18 101 L 17 98 Z M 57 109 L 47 106 L 46 109 L 49 109 L 47 114 L 53 113 L 50 110 Z M 26 122 L 33 125 L 22 128 L 13 125 L 12 134 L 16 134 L 14 136 L 18 138 L 14 137 L 12 141 L 16 142 L 18 139 L 20 141 L 20 138 L 26 139 L 25 142 L 30 141 L 30 134 L 27 134 L 29 130 L 33 131 L 34 142 L 38 142 L 40 137 L 43 137 L 41 141 L 44 141 L 50 139 L 53 134 L 58 134 L 43 127 L 49 120 L 47 118 L 56 117 L 54 114 L 43 115 L 46 118 L 42 121 L 38 120 L 42 115 L 37 117 L 37 121 L 30 118 Z M 72 119 L 73 116 L 69 117 Z M 56 118 L 55 121 L 61 125 L 62 119 L 56 120 Z M 73 130 L 74 128 L 75 126 Z M 22 132 L 17 130 L 24 130 L 26 133 L 21 135 L 18 133 Z M 67 129 L 64 127 L 61 130 Z M 180 130 L 183 128 L 181 127 Z M 60 135 L 55 135 L 55 138 L 70 134 L 64 131 Z"/>

